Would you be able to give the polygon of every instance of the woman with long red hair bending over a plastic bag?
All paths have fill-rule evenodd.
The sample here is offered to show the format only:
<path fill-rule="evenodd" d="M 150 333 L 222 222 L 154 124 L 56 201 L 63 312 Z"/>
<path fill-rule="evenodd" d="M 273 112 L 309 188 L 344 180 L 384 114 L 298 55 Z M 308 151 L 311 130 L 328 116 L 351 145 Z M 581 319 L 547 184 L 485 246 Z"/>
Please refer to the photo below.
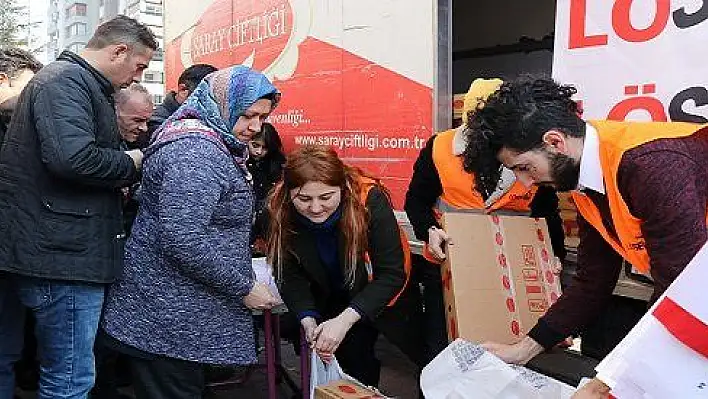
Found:
<path fill-rule="evenodd" d="M 406 289 L 409 254 L 386 188 L 333 150 L 305 146 L 288 156 L 268 208 L 268 259 L 320 357 L 336 355 L 347 374 L 376 386 L 381 331 L 422 366 L 419 298 Z"/>

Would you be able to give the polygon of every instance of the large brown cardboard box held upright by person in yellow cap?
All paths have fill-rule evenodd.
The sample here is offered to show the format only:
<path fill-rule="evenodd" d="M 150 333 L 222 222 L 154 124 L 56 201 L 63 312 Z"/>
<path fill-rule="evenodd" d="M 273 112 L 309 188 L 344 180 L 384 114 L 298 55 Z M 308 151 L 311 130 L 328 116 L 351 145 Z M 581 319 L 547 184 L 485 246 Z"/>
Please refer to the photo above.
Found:
<path fill-rule="evenodd" d="M 442 266 L 448 336 L 514 343 L 560 295 L 545 220 L 446 213 Z"/>

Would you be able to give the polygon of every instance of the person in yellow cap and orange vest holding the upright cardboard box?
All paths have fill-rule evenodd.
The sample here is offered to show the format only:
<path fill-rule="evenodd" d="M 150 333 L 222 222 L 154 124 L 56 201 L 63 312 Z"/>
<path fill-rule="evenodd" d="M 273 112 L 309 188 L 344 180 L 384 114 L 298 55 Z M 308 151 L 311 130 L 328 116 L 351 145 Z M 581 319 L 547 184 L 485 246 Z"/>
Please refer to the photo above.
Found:
<path fill-rule="evenodd" d="M 422 259 L 414 257 L 416 280 L 423 284 L 426 341 L 434 357 L 448 343 L 440 263 L 445 258 L 449 237 L 438 223 L 440 212 L 450 210 L 504 211 L 545 217 L 555 254 L 563 259 L 563 226 L 558 197 L 553 189 L 525 187 L 511 171 L 490 184 L 475 184 L 475 174 L 464 170 L 462 153 L 467 143 L 468 113 L 502 84 L 500 79 L 475 79 L 465 95 L 463 124 L 431 137 L 416 160 L 406 193 L 405 210 L 416 237 L 425 242 Z"/>

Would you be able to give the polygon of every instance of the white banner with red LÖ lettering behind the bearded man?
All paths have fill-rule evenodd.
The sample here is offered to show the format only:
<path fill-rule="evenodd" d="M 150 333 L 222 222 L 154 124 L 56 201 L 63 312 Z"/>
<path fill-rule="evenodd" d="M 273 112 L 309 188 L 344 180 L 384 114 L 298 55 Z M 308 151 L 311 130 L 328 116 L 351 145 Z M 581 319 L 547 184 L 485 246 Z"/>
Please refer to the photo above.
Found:
<path fill-rule="evenodd" d="M 708 0 L 558 0 L 553 77 L 585 119 L 708 122 Z"/>

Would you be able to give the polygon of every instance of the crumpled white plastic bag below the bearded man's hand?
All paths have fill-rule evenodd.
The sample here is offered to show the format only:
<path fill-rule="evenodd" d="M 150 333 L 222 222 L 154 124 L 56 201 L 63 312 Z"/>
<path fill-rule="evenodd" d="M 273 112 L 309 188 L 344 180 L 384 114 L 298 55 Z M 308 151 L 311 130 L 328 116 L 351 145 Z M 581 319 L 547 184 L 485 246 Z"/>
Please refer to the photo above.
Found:
<path fill-rule="evenodd" d="M 420 386 L 426 399 L 568 399 L 575 391 L 461 339 L 423 369 Z"/>

